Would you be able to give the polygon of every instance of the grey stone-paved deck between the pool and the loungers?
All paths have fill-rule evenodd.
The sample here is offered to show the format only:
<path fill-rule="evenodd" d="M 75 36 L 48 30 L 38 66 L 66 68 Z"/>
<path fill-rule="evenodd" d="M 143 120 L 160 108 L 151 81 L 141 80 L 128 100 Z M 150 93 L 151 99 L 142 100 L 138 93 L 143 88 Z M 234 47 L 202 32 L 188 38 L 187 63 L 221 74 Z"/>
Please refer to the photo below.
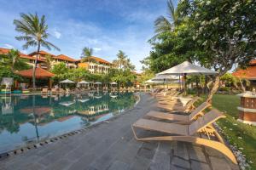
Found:
<path fill-rule="evenodd" d="M 0 169 L 239 169 L 216 150 L 183 142 L 139 142 L 131 123 L 150 110 L 155 99 L 141 94 L 140 102 L 125 114 L 83 133 L 9 156 Z"/>

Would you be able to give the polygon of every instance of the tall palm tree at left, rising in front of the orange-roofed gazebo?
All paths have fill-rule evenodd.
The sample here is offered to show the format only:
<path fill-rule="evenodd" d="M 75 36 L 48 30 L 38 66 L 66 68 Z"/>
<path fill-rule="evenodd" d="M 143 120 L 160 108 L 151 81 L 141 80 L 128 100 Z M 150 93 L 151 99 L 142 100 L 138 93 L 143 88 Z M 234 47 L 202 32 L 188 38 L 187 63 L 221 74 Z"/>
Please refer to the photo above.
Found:
<path fill-rule="evenodd" d="M 45 15 L 43 15 L 40 19 L 38 18 L 38 14 L 20 14 L 20 20 L 14 20 L 15 30 L 20 32 L 22 35 L 19 37 L 15 37 L 19 41 L 25 41 L 26 43 L 23 45 L 23 48 L 27 49 L 29 47 L 38 47 L 37 57 L 35 59 L 35 63 L 33 65 L 32 72 L 32 82 L 33 82 L 33 90 L 36 88 L 36 79 L 35 72 L 38 64 L 38 54 L 41 46 L 50 50 L 51 48 L 55 48 L 56 50 L 60 50 L 54 44 L 47 41 L 49 37 L 48 33 L 48 25 L 46 24 Z"/>

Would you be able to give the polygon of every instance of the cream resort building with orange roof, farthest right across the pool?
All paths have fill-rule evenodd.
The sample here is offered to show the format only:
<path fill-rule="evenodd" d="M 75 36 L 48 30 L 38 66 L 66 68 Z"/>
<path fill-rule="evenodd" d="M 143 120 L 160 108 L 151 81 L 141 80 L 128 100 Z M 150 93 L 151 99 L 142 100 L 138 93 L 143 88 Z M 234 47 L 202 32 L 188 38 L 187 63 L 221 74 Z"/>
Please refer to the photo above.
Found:
<path fill-rule="evenodd" d="M 79 59 L 77 63 L 79 67 L 86 68 L 93 74 L 108 74 L 108 70 L 113 66 L 107 60 L 95 56 L 88 57 L 84 62 L 81 62 L 81 59 Z"/>

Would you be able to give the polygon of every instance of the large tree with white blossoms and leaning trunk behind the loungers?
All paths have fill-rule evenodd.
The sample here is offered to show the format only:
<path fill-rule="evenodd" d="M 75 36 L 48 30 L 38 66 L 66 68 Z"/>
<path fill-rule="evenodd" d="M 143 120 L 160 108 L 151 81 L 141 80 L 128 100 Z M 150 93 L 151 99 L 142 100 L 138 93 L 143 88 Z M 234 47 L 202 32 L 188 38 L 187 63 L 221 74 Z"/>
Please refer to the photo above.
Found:
<path fill-rule="evenodd" d="M 194 40 L 209 55 L 206 62 L 218 71 L 207 101 L 219 87 L 220 77 L 235 63 L 245 67 L 256 57 L 255 3 L 253 1 L 182 1 L 179 8 L 195 30 Z"/>

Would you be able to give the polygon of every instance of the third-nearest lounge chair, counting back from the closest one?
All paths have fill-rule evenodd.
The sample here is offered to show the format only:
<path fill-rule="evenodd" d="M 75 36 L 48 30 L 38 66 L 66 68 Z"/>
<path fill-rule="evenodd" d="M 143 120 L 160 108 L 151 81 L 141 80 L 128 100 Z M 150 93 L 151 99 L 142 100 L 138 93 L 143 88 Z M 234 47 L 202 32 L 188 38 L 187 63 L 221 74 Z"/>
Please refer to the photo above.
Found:
<path fill-rule="evenodd" d="M 189 112 L 195 109 L 195 102 L 200 99 L 199 97 L 195 97 L 194 99 L 191 99 L 187 105 L 185 106 L 177 106 L 177 105 L 172 105 L 172 104 L 158 104 L 157 106 L 160 107 L 161 109 L 165 109 L 167 111 L 183 111 L 183 112 Z"/>

